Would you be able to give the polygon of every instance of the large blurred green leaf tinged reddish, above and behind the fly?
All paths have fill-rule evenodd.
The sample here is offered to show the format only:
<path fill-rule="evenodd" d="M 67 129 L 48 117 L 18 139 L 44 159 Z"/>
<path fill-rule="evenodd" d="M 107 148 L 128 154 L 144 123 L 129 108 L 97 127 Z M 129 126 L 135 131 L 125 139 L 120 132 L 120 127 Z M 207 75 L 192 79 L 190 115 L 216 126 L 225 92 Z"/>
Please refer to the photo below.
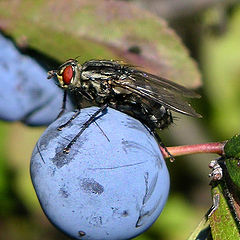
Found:
<path fill-rule="evenodd" d="M 188 87 L 201 85 L 197 66 L 174 31 L 129 2 L 5 0 L 0 26 L 18 45 L 59 62 L 78 55 L 80 62 L 123 59 Z"/>

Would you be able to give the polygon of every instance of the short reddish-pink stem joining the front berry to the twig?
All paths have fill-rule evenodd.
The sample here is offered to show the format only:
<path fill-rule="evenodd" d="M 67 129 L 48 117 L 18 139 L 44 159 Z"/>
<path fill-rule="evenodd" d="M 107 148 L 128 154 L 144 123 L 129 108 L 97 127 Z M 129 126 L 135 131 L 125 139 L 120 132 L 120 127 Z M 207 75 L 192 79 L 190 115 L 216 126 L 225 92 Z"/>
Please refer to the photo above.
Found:
<path fill-rule="evenodd" d="M 194 145 L 184 145 L 177 147 L 167 147 L 167 150 L 171 153 L 173 157 L 196 154 L 196 153 L 216 153 L 219 155 L 224 154 L 225 142 L 215 142 L 215 143 L 202 143 Z M 166 153 L 165 149 L 160 147 L 163 157 L 168 158 L 169 154 Z"/>

